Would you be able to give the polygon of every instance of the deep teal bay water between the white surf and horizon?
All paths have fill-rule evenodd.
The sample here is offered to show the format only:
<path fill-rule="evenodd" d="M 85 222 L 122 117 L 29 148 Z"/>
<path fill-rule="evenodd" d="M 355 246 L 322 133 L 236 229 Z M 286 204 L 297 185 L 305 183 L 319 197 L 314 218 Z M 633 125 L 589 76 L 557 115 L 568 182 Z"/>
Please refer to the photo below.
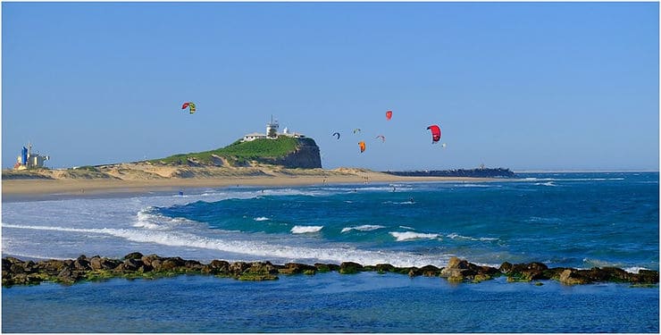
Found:
<path fill-rule="evenodd" d="M 657 174 L 522 177 L 527 179 L 303 188 L 302 194 L 200 200 L 154 212 L 204 222 L 211 230 L 265 239 L 299 234 L 313 239 L 304 245 L 404 250 L 427 260 L 460 255 L 496 265 L 658 269 Z"/>

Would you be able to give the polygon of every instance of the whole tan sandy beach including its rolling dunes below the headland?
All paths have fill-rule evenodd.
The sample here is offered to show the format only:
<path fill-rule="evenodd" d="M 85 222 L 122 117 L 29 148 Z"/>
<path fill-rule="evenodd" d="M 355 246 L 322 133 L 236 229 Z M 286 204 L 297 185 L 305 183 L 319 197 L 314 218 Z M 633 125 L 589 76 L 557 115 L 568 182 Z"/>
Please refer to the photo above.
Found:
<path fill-rule="evenodd" d="M 237 186 L 300 186 L 324 183 L 372 183 L 488 179 L 459 177 L 400 177 L 359 168 L 285 169 L 264 165 L 242 168 L 155 166 L 122 163 L 93 169 L 43 170 L 31 179 L 3 172 L 3 201 L 56 197 L 138 195 L 148 192 L 179 192 L 184 188 Z M 41 178 L 35 178 L 41 177 Z"/>

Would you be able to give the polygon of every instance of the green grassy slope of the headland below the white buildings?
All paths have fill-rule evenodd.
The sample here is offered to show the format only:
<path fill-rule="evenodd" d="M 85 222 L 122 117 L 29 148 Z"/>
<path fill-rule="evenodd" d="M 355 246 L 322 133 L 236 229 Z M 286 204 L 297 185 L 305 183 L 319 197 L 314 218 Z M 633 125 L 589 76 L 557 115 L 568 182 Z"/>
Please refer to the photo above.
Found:
<path fill-rule="evenodd" d="M 255 139 L 249 142 L 237 140 L 227 147 L 199 153 L 172 155 L 165 158 L 153 159 L 148 162 L 155 164 L 180 165 L 191 162 L 202 165 L 219 165 L 221 158 L 231 165 L 242 165 L 250 161 L 273 163 L 278 159 L 297 152 L 301 146 L 314 146 L 312 138 L 279 138 Z"/>

